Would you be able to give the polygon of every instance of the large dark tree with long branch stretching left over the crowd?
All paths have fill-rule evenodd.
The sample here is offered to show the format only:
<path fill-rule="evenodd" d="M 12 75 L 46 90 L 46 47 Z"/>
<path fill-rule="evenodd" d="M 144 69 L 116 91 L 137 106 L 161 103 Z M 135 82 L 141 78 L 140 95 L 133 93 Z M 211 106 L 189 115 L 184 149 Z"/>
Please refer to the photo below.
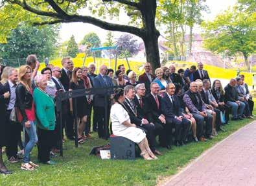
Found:
<path fill-rule="evenodd" d="M 26 14 L 30 15 L 30 21 L 36 25 L 83 22 L 102 29 L 128 32 L 139 36 L 145 43 L 147 62 L 150 62 L 154 69 L 160 66 L 157 42 L 160 34 L 155 24 L 157 0 L 5 0 L 3 2 L 9 8 L 26 10 Z M 84 13 L 89 10 L 95 14 L 94 17 L 85 16 Z M 121 10 L 124 10 L 136 24 L 121 25 L 104 19 L 106 14 L 119 16 Z M 96 14 L 103 18 L 97 18 Z"/>

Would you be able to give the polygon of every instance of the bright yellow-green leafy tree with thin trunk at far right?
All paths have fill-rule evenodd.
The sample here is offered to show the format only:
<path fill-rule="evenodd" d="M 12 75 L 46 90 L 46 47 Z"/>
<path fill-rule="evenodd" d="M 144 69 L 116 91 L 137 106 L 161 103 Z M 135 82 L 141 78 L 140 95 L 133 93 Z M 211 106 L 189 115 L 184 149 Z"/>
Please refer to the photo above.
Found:
<path fill-rule="evenodd" d="M 213 21 L 203 24 L 205 30 L 204 45 L 214 52 L 226 52 L 229 56 L 240 53 L 248 70 L 248 56 L 256 51 L 255 14 L 241 12 L 238 6 L 219 14 Z"/>

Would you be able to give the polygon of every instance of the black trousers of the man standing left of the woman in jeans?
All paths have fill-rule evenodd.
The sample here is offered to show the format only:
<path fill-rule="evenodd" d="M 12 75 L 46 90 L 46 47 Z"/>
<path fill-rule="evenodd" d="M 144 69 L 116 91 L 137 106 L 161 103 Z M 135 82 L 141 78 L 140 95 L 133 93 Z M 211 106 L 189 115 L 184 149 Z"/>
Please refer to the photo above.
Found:
<path fill-rule="evenodd" d="M 17 157 L 17 144 L 21 137 L 21 124 L 10 121 L 11 110 L 6 111 L 6 121 L 8 121 L 8 145 L 6 146 L 6 156 Z"/>

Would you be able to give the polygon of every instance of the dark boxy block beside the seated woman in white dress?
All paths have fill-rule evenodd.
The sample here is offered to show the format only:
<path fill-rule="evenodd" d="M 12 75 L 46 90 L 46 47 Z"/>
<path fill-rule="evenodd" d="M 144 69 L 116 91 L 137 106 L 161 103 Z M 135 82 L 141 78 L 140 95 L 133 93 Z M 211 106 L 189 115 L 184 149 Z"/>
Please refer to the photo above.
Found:
<path fill-rule="evenodd" d="M 135 160 L 135 143 L 121 136 L 110 137 L 111 159 Z"/>

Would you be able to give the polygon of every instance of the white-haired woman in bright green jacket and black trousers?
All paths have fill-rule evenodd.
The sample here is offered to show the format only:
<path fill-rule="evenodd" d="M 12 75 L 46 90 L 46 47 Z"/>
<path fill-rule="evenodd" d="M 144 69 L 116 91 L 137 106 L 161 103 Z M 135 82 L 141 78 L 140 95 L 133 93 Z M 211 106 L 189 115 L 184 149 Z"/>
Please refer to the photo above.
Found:
<path fill-rule="evenodd" d="M 52 141 L 54 141 L 55 111 L 52 98 L 47 95 L 47 76 L 38 75 L 35 78 L 34 102 L 38 124 L 38 160 L 45 164 L 55 164 L 50 159 Z"/>

